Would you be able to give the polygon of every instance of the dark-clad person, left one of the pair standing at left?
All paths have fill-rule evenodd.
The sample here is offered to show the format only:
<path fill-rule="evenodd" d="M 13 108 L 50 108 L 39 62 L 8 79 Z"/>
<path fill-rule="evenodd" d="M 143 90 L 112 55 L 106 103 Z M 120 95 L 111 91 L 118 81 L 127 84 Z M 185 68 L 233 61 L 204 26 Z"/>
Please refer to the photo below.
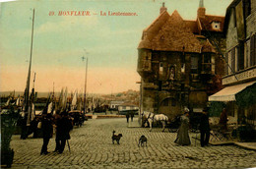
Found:
<path fill-rule="evenodd" d="M 42 139 L 43 139 L 43 144 L 41 146 L 41 152 L 40 154 L 47 154 L 49 153 L 47 151 L 47 146 L 52 138 L 53 134 L 53 121 L 52 121 L 52 116 L 51 114 L 47 115 L 42 115 L 42 120 L 41 120 L 41 129 L 42 129 Z"/>

